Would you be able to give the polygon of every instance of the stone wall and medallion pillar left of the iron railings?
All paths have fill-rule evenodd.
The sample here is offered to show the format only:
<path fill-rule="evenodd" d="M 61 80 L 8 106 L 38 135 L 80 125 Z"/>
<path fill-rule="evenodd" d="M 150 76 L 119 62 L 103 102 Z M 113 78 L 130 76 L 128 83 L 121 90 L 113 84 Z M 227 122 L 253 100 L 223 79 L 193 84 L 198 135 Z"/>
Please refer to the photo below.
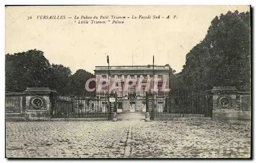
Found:
<path fill-rule="evenodd" d="M 6 121 L 49 121 L 53 93 L 49 88 L 27 88 L 24 92 L 6 92 Z"/>

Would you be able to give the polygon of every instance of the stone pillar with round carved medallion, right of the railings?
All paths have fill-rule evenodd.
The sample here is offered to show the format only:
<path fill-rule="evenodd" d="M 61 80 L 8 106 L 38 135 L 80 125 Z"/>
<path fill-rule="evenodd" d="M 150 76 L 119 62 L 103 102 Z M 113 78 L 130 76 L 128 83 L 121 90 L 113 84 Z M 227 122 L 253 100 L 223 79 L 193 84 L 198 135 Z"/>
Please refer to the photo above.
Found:
<path fill-rule="evenodd" d="M 239 90 L 234 86 L 214 86 L 212 93 L 212 120 L 234 120 L 241 112 L 237 105 Z"/>

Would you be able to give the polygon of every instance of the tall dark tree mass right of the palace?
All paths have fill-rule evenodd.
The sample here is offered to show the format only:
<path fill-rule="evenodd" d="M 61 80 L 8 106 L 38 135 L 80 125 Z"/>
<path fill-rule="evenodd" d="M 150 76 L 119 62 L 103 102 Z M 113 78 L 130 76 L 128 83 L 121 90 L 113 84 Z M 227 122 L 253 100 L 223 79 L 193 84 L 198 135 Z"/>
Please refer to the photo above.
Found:
<path fill-rule="evenodd" d="M 250 59 L 250 14 L 229 11 L 211 21 L 205 38 L 186 55 L 176 80 L 184 81 L 183 88 L 250 89 Z"/>

